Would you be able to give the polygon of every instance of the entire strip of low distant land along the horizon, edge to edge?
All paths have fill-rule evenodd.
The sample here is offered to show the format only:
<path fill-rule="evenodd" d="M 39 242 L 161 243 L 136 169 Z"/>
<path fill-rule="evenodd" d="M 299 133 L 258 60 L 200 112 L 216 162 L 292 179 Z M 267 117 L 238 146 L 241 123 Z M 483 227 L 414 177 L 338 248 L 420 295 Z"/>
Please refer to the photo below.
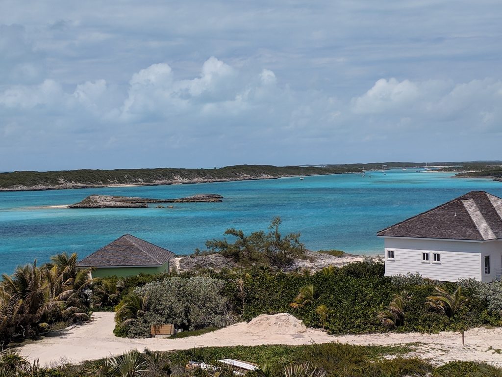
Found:
<path fill-rule="evenodd" d="M 233 165 L 213 169 L 154 168 L 114 170 L 13 171 L 0 173 L 0 191 L 86 189 L 119 185 L 160 185 L 274 179 L 300 175 L 362 173 L 363 169 L 443 167 L 457 176 L 502 180 L 502 161 L 370 162 L 326 165 Z"/>

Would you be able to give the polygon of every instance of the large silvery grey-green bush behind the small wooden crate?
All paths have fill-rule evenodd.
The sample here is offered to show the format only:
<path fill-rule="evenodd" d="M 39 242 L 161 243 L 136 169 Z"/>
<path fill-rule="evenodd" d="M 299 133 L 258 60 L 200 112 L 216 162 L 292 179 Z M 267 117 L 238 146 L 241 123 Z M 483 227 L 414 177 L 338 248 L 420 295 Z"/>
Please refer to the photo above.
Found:
<path fill-rule="evenodd" d="M 184 330 L 227 326 L 234 318 L 224 288 L 223 280 L 205 276 L 175 276 L 151 282 L 122 301 L 117 309 L 117 324 L 130 337 L 150 336 L 151 326 L 166 323 Z M 137 298 L 141 301 L 133 302 Z M 132 308 L 138 309 L 132 313 Z"/>

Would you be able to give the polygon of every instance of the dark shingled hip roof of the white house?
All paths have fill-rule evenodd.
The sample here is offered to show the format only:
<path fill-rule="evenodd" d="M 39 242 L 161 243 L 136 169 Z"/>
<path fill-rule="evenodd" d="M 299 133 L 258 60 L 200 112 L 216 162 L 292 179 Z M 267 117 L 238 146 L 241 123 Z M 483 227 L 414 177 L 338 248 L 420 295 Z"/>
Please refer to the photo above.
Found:
<path fill-rule="evenodd" d="M 377 233 L 385 237 L 502 239 L 502 199 L 484 191 L 461 197 Z"/>

